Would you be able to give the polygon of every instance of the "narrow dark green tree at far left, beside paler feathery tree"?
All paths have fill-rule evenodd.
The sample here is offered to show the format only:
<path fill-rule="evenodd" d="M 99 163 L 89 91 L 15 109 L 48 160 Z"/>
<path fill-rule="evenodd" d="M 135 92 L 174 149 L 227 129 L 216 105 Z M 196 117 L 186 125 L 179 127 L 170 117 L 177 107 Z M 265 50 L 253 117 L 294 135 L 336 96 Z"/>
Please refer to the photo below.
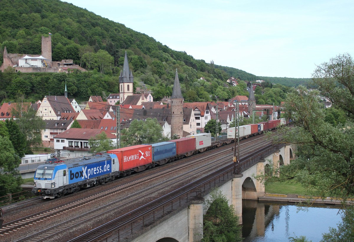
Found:
<path fill-rule="evenodd" d="M 25 135 L 21 132 L 18 124 L 13 120 L 5 121 L 9 139 L 15 149 L 16 154 L 19 158 L 22 158 L 26 153 L 27 140 Z"/>

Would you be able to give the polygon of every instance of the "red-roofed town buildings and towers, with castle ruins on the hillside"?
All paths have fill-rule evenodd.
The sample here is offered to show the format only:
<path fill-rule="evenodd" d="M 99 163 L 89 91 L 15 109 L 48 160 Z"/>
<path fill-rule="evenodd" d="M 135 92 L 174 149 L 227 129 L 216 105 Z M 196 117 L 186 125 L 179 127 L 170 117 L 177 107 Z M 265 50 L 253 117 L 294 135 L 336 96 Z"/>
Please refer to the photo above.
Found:
<path fill-rule="evenodd" d="M 50 40 L 50 36 L 47 38 Z M 42 40 L 42 49 L 46 49 L 46 44 L 43 43 Z M 50 56 L 45 51 L 43 54 Z M 40 64 L 42 66 L 19 66 L 23 55 L 17 54 L 16 60 L 18 62 L 14 62 L 14 59 L 9 56 L 11 55 L 4 55 L 2 68 L 9 64 L 18 65 L 14 68 L 22 72 L 27 70 L 32 72 L 33 68 L 38 68 L 38 71 L 54 68 L 52 67 L 53 62 L 50 60 L 43 61 Z M 11 61 L 9 62 L 9 60 Z M 28 60 L 26 59 L 26 61 Z M 68 71 L 68 69 L 63 69 L 60 63 L 55 69 Z M 185 137 L 190 134 L 203 133 L 206 123 L 211 119 L 217 119 L 221 123 L 221 133 L 223 133 L 235 120 L 236 103 L 239 104 L 238 115 L 240 119 L 249 118 L 253 110 L 256 110 L 256 116 L 267 115 L 265 111 L 267 109 L 269 110 L 268 119 L 275 119 L 277 113 L 273 111 L 279 109 L 273 105 L 256 105 L 253 93 L 259 83 L 252 84 L 252 88 L 249 88 L 251 90 L 249 97 L 238 95 L 228 101 L 185 103 L 177 70 L 172 95 L 163 99 L 164 102 L 155 101 L 152 94 L 145 93 L 144 90 L 140 90 L 140 93 L 133 93 L 133 79 L 127 54 L 125 54 L 123 70 L 119 76 L 120 93 L 110 93 L 107 100 L 103 100 L 101 96 L 91 96 L 86 102 L 78 103 L 74 98 L 68 98 L 65 84 L 63 96 L 46 95 L 35 103 L 25 103 L 25 106 L 36 110 L 36 115 L 42 117 L 46 122 L 45 129 L 41 131 L 43 147 L 57 151 L 66 150 L 67 152 L 87 154 L 90 151 L 88 140 L 91 137 L 105 132 L 109 139 L 116 141 L 119 132 L 117 130 L 118 123 L 120 123 L 120 130 L 129 129 L 133 120 L 145 121 L 147 118 L 156 118 L 162 127 L 163 136 L 167 138 L 171 138 L 174 134 L 178 137 Z M 232 85 L 238 84 L 234 77 L 230 77 L 228 82 L 231 82 Z M 249 83 L 250 85 L 251 83 Z M 16 106 L 17 104 L 12 102 L 4 103 L 0 108 L 0 120 L 16 118 L 12 114 Z M 118 108 L 119 121 L 117 120 Z M 74 120 L 79 122 L 81 129 L 70 129 Z"/>

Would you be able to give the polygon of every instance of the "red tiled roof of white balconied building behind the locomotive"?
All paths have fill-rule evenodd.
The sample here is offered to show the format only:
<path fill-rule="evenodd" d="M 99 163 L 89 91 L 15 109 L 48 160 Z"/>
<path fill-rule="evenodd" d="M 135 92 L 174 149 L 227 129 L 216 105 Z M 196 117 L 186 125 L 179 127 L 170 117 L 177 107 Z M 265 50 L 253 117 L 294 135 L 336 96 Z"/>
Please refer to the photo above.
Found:
<path fill-rule="evenodd" d="M 88 140 L 102 132 L 105 132 L 107 134 L 107 138 L 109 139 L 116 138 L 115 135 L 107 131 L 101 130 L 100 128 L 70 128 L 69 130 L 58 134 L 57 136 L 55 136 L 55 138 Z"/>

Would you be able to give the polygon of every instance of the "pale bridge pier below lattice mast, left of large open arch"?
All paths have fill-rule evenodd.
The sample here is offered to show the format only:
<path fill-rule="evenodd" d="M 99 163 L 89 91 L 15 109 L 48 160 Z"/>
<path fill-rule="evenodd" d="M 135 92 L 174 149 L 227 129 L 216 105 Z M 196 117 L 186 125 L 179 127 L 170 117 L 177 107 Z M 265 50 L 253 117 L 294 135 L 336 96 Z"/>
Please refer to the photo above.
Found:
<path fill-rule="evenodd" d="M 242 176 L 243 174 L 235 174 L 231 185 L 231 203 L 235 207 L 235 214 L 239 216 L 239 224 L 242 224 Z"/>

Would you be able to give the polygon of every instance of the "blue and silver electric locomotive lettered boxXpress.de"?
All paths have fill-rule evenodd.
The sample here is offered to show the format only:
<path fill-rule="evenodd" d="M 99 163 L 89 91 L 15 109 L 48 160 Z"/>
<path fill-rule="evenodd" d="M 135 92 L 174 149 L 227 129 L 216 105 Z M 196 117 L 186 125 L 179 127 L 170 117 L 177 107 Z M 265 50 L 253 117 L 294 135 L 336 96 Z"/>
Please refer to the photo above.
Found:
<path fill-rule="evenodd" d="M 84 156 L 63 163 L 39 165 L 34 175 L 32 193 L 42 198 L 62 197 L 114 180 L 119 176 L 119 161 L 115 154 Z"/>

